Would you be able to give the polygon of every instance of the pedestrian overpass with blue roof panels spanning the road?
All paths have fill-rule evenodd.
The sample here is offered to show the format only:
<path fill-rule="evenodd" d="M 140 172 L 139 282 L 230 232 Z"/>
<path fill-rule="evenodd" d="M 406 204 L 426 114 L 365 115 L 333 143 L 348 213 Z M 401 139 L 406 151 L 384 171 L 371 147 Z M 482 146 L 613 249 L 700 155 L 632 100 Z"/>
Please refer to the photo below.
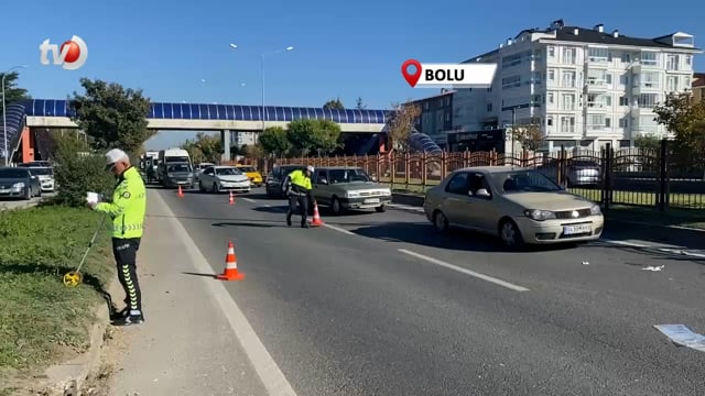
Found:
<path fill-rule="evenodd" d="M 0 130 L 0 154 L 4 156 L 4 136 L 10 156 L 22 146 L 23 161 L 33 156 L 31 129 L 78 128 L 66 99 L 31 99 L 8 106 L 8 124 Z M 369 133 L 378 140 L 388 118 L 388 110 L 324 109 L 279 106 L 242 106 L 207 103 L 153 102 L 147 114 L 151 130 L 220 131 L 224 158 L 230 158 L 230 131 L 262 131 L 263 128 L 286 125 L 294 120 L 329 120 L 341 132 Z M 26 133 L 23 133 L 28 129 Z M 24 143 L 24 144 L 21 144 Z M 30 158 L 30 160 L 28 160 Z"/>

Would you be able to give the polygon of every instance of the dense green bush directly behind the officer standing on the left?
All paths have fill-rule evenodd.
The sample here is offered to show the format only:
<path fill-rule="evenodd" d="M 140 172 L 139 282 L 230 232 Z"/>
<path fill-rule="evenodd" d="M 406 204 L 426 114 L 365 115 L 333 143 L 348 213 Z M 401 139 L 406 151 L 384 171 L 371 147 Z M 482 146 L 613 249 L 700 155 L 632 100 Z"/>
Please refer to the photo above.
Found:
<path fill-rule="evenodd" d="M 86 193 L 109 196 L 115 177 L 105 170 L 105 156 L 95 154 L 86 142 L 74 135 L 56 136 L 56 166 L 54 177 L 57 194 L 52 202 L 80 207 L 86 205 Z"/>

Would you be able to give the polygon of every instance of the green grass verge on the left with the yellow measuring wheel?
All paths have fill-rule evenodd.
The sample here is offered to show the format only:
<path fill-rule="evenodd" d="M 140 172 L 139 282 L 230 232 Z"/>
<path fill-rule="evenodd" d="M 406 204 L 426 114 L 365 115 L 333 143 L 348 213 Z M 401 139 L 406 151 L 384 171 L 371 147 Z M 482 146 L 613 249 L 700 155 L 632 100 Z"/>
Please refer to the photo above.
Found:
<path fill-rule="evenodd" d="M 62 277 L 78 265 L 100 216 L 58 206 L 0 212 L 0 395 L 89 346 L 95 307 L 113 274 L 107 228 L 83 284 L 66 287 Z"/>

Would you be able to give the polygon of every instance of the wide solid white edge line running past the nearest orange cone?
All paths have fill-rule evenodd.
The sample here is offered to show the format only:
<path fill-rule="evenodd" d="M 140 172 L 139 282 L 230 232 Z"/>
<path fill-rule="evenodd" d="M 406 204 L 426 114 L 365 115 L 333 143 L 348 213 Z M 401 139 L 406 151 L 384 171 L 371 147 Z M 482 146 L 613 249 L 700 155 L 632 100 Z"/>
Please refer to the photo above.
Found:
<path fill-rule="evenodd" d="M 159 206 L 164 208 L 164 211 L 170 218 L 169 220 L 173 222 L 172 229 L 176 233 L 177 238 L 183 241 L 196 271 L 204 274 L 212 273 L 213 268 L 208 264 L 208 261 L 204 257 L 198 246 L 196 246 L 196 243 L 191 235 L 188 235 L 184 226 L 182 226 L 182 223 L 176 219 L 172 209 L 160 195 L 155 194 L 154 196 L 155 198 L 153 199 L 161 201 Z M 259 337 L 257 337 L 252 326 L 247 320 L 237 302 L 235 302 L 232 297 L 230 297 L 223 283 L 219 280 L 205 282 L 207 282 L 213 297 L 220 305 L 223 315 L 228 319 L 232 331 L 235 331 L 240 345 L 250 359 L 252 366 L 254 366 L 254 370 L 262 381 L 262 384 L 264 384 L 268 393 L 272 396 L 296 396 L 296 393 L 284 376 L 284 373 L 279 369 L 276 362 L 274 362 L 270 353 L 267 351 L 267 348 L 264 348 L 264 344 Z"/>

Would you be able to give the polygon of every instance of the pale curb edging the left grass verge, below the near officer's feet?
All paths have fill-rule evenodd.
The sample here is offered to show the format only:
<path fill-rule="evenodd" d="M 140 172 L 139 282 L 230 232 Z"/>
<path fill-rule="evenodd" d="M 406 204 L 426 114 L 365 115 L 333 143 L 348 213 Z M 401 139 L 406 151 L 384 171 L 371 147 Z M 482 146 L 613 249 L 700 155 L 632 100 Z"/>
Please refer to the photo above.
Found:
<path fill-rule="evenodd" d="M 117 277 L 113 277 L 108 285 L 108 293 L 116 290 Z M 90 346 L 88 351 L 78 356 L 48 367 L 44 373 L 47 377 L 44 393 L 45 396 L 80 396 L 83 386 L 91 374 L 100 369 L 102 346 L 105 345 L 105 334 L 108 327 L 109 317 L 105 302 L 99 304 L 94 310 L 96 323 L 90 329 Z"/>

